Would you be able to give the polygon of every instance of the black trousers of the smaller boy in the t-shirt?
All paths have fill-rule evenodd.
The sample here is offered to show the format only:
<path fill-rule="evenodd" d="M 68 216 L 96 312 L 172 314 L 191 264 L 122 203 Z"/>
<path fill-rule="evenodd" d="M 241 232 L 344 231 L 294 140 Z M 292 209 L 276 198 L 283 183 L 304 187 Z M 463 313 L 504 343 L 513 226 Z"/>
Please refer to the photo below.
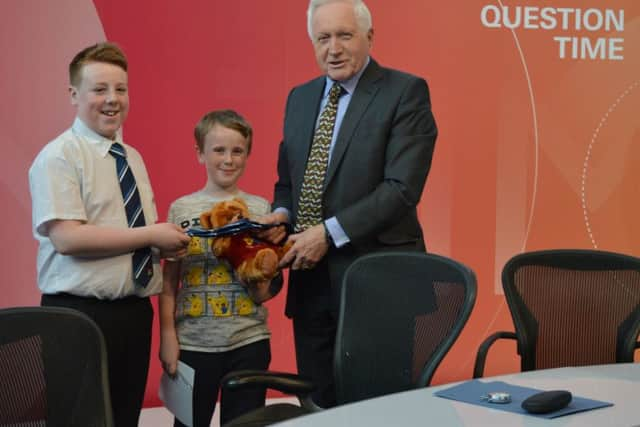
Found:
<path fill-rule="evenodd" d="M 240 369 L 268 369 L 271 362 L 271 346 L 269 340 L 261 340 L 222 353 L 181 350 L 180 360 L 195 370 L 193 427 L 209 427 L 222 377 Z M 220 424 L 224 425 L 242 414 L 263 407 L 265 396 L 264 388 L 223 390 L 220 398 Z M 174 427 L 183 426 L 184 424 L 175 420 Z"/>

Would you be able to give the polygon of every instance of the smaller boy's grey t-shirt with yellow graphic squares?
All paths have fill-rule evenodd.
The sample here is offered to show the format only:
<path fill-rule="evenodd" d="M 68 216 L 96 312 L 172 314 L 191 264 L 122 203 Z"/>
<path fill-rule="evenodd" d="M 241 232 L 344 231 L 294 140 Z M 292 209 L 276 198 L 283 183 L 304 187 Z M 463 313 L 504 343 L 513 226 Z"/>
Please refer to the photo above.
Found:
<path fill-rule="evenodd" d="M 239 192 L 249 216 L 270 212 L 262 197 Z M 230 197 L 231 198 L 231 197 Z M 200 225 L 200 214 L 222 200 L 198 191 L 177 199 L 168 221 L 182 227 Z M 270 336 L 267 309 L 251 301 L 231 266 L 211 252 L 211 239 L 192 237 L 181 259 L 181 283 L 176 298 L 176 331 L 180 348 L 191 351 L 233 350 Z"/>

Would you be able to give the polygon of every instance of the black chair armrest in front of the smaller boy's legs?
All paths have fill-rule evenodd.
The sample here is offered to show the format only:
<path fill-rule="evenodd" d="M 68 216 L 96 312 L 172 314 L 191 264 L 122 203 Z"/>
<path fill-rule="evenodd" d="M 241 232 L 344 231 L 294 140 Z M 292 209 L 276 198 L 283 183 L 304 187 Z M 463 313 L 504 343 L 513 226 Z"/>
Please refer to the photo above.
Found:
<path fill-rule="evenodd" d="M 300 375 L 258 370 L 229 372 L 222 379 L 222 387 L 228 390 L 270 388 L 298 397 L 306 396 L 316 389 L 308 378 Z"/>

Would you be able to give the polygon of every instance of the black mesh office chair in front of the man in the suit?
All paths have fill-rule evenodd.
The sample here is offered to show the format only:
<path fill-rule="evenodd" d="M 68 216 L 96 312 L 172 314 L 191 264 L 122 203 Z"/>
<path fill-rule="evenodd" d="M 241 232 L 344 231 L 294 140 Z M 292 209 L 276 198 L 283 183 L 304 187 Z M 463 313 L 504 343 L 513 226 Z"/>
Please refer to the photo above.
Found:
<path fill-rule="evenodd" d="M 438 255 L 380 252 L 345 273 L 335 348 L 338 404 L 425 387 L 462 331 L 475 303 L 475 274 Z M 269 405 L 228 426 L 268 425 L 320 408 L 313 384 L 293 374 L 230 373 L 223 387 L 267 387 L 296 394 L 301 406 Z"/>

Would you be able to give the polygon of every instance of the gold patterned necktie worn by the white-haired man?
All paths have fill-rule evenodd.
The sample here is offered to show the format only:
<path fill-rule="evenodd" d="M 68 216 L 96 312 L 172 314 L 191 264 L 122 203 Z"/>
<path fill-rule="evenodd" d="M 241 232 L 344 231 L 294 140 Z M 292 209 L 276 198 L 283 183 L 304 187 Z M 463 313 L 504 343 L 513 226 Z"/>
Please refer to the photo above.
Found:
<path fill-rule="evenodd" d="M 320 115 L 318 128 L 313 135 L 307 168 L 302 180 L 300 200 L 298 201 L 296 233 L 322 222 L 322 187 L 327 174 L 329 147 L 336 123 L 338 99 L 341 91 L 342 86 L 338 82 L 334 82 L 329 91 L 329 101 Z"/>

